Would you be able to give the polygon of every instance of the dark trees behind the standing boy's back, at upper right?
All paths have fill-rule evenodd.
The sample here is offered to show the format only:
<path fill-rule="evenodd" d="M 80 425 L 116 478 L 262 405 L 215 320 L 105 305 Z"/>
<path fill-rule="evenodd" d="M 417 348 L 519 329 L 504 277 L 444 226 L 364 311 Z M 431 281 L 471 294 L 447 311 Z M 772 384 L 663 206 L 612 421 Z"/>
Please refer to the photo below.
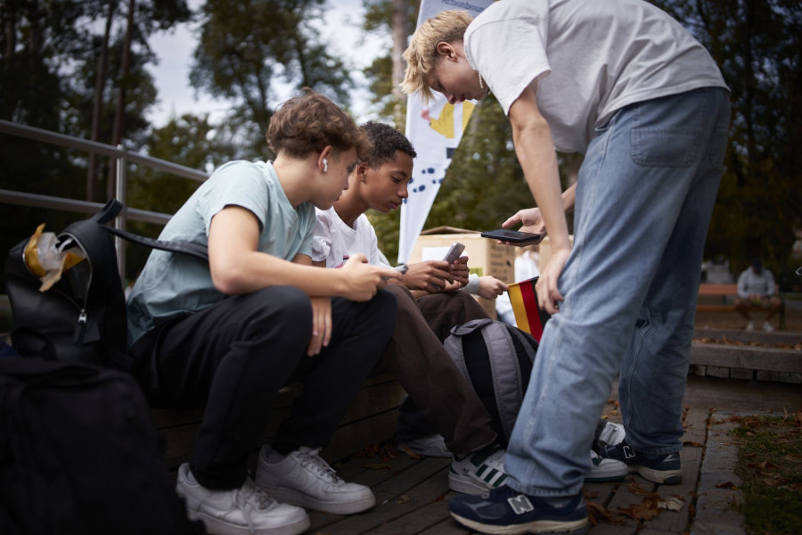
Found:
<path fill-rule="evenodd" d="M 783 286 L 802 229 L 802 4 L 798 0 L 655 1 L 708 48 L 732 90 L 726 170 L 706 256 L 735 273 L 759 256 Z"/>

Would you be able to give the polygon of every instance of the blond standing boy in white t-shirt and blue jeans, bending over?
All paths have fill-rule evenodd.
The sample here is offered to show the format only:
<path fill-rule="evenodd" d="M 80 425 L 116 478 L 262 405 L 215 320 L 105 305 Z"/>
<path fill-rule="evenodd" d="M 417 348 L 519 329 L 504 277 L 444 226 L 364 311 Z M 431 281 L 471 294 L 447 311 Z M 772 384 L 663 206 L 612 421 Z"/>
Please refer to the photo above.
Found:
<path fill-rule="evenodd" d="M 504 533 L 586 528 L 582 474 L 619 374 L 626 440 L 600 448 L 679 482 L 682 399 L 702 249 L 721 177 L 729 94 L 705 48 L 642 0 L 501 0 L 441 12 L 405 52 L 403 88 L 449 102 L 492 91 L 548 231 L 537 284 L 551 313 L 507 450 L 507 485 L 450 508 Z M 583 152 L 561 193 L 555 148 Z M 564 210 L 575 210 L 574 244 Z"/>

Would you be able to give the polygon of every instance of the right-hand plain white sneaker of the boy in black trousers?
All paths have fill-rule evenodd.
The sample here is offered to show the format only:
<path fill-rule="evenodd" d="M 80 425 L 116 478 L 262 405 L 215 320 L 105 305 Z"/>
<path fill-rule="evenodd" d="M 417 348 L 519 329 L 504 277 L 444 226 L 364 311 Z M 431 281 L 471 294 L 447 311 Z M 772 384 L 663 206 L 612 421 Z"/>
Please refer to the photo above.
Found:
<path fill-rule="evenodd" d="M 301 447 L 277 462 L 268 461 L 272 451 L 262 446 L 255 478 L 257 485 L 271 496 L 333 514 L 359 513 L 376 504 L 370 487 L 340 479 L 320 457 L 319 448 Z"/>

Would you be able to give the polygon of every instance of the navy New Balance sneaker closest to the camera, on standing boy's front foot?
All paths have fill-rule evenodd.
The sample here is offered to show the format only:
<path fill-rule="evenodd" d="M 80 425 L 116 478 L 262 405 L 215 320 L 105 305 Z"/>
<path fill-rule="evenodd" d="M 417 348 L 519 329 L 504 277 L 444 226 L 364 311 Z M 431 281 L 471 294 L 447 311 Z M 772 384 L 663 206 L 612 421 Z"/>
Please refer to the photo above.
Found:
<path fill-rule="evenodd" d="M 481 496 L 452 498 L 448 510 L 458 523 L 482 533 L 587 533 L 582 494 L 539 498 L 503 485 Z"/>

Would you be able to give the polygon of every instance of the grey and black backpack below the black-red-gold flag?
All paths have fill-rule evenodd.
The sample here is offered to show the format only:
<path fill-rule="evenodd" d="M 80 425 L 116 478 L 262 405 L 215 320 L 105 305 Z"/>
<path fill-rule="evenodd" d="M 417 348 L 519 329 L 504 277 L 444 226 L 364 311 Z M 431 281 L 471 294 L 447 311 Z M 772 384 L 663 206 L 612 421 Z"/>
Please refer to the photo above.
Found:
<path fill-rule="evenodd" d="M 537 342 L 531 334 L 492 319 L 474 319 L 451 329 L 443 342 L 473 385 L 506 446 L 527 391 Z"/>

